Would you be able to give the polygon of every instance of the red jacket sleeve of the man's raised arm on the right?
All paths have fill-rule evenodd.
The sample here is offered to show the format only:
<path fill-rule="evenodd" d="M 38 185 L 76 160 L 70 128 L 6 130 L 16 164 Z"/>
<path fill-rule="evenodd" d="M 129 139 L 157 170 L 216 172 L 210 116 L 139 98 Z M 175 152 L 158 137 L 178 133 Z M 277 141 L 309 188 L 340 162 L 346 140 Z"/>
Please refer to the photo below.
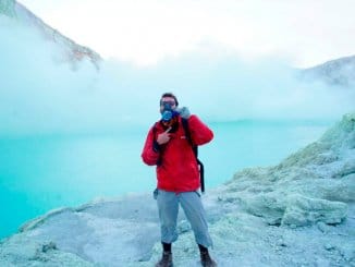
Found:
<path fill-rule="evenodd" d="M 195 145 L 204 145 L 213 138 L 213 132 L 195 114 L 188 118 L 188 129 Z"/>

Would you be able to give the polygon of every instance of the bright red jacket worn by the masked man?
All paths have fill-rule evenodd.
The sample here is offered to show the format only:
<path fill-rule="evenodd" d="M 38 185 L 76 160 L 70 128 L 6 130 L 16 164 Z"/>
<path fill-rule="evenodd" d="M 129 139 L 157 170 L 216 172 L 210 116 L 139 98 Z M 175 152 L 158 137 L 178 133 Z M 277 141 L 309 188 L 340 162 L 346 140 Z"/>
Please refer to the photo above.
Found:
<path fill-rule="evenodd" d="M 213 138 L 212 131 L 197 116 L 188 118 L 188 129 L 195 145 L 204 145 Z M 160 161 L 157 165 L 158 189 L 176 193 L 198 190 L 200 186 L 198 166 L 192 145 L 186 139 L 181 118 L 179 117 L 178 131 L 171 133 L 170 141 L 155 149 L 154 143 L 162 132 L 163 126 L 159 122 L 156 123 L 148 132 L 142 153 L 146 165 L 154 166 Z"/>

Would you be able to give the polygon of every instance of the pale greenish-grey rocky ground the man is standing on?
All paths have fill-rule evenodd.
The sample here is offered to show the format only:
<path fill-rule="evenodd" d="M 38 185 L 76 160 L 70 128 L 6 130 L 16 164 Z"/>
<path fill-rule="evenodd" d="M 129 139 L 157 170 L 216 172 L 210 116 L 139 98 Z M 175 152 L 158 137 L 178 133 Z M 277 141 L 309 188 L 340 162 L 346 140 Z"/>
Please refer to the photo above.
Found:
<path fill-rule="evenodd" d="M 237 172 L 203 199 L 219 266 L 354 266 L 355 113 L 278 166 Z M 183 215 L 179 232 L 174 266 L 199 266 Z M 0 263 L 152 266 L 160 253 L 156 204 L 143 194 L 36 218 L 1 242 Z"/>

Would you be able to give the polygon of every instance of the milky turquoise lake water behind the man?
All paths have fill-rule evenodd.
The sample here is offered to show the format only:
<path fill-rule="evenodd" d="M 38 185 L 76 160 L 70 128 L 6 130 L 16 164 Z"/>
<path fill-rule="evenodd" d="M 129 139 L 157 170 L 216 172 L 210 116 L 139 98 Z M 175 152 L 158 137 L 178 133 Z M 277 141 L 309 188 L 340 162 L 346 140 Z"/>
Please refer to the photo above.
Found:
<path fill-rule="evenodd" d="M 242 168 L 278 163 L 316 141 L 330 124 L 211 123 L 215 141 L 199 148 L 207 191 Z M 77 206 L 99 196 L 152 191 L 155 169 L 140 160 L 146 132 L 0 138 L 0 238 L 52 208 Z"/>

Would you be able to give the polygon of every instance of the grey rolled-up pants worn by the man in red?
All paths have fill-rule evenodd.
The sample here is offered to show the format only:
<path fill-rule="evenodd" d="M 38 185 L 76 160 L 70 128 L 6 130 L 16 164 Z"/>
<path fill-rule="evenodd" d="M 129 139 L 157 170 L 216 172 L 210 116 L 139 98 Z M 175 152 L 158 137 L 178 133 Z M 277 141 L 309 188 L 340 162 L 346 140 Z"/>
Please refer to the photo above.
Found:
<path fill-rule="evenodd" d="M 212 240 L 208 233 L 206 213 L 197 192 L 176 194 L 158 190 L 156 198 L 160 218 L 161 242 L 172 243 L 178 239 L 176 221 L 180 204 L 192 226 L 197 244 L 205 247 L 212 245 Z"/>

